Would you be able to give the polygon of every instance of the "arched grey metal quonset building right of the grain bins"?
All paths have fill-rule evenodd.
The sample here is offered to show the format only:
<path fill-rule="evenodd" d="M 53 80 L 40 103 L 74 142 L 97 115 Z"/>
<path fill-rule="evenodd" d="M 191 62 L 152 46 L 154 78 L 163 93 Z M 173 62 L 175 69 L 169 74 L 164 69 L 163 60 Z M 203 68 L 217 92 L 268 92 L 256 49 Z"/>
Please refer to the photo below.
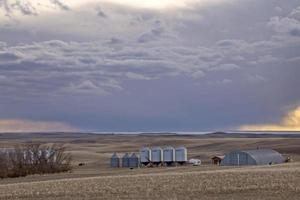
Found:
<path fill-rule="evenodd" d="M 232 151 L 221 161 L 223 166 L 271 165 L 284 163 L 283 156 L 272 149 Z"/>

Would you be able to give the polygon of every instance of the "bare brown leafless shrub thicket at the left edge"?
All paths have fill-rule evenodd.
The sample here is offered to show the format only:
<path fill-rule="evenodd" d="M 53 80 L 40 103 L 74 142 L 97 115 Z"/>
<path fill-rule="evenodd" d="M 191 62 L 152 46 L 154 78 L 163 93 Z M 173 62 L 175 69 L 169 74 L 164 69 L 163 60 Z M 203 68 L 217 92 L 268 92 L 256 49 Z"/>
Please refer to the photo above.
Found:
<path fill-rule="evenodd" d="M 22 145 L 0 151 L 0 178 L 66 172 L 71 161 L 62 145 Z"/>

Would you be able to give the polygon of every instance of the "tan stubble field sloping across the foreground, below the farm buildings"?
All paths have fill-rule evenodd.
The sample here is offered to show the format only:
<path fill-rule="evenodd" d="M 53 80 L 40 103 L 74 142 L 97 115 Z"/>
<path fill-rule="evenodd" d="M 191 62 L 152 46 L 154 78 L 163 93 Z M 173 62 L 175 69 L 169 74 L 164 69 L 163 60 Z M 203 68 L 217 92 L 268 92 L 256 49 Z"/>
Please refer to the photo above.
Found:
<path fill-rule="evenodd" d="M 300 165 L 113 175 L 0 186 L 1 199 L 299 199 Z"/>

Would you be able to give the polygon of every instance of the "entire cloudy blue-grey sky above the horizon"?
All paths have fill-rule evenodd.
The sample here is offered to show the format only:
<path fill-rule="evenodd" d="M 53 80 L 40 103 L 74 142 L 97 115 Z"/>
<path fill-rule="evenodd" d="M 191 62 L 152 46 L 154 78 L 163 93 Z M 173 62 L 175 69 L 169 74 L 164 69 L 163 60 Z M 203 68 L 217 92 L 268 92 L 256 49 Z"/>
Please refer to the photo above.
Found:
<path fill-rule="evenodd" d="M 0 132 L 300 131 L 299 0 L 0 0 Z"/>

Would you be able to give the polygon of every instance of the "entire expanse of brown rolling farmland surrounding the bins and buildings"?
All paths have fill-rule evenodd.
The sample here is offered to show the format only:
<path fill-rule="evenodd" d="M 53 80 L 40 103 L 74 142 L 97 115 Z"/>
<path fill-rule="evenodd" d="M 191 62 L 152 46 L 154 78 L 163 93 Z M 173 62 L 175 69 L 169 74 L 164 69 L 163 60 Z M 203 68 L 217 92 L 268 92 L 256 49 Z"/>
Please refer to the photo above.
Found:
<path fill-rule="evenodd" d="M 300 138 L 210 138 L 93 134 L 0 134 L 0 147 L 64 143 L 71 173 L 0 180 L 0 199 L 299 199 Z M 110 169 L 113 152 L 141 146 L 185 145 L 201 167 Z M 277 166 L 218 167 L 210 157 L 233 149 L 273 148 L 294 162 Z M 78 163 L 86 163 L 78 167 Z"/>

